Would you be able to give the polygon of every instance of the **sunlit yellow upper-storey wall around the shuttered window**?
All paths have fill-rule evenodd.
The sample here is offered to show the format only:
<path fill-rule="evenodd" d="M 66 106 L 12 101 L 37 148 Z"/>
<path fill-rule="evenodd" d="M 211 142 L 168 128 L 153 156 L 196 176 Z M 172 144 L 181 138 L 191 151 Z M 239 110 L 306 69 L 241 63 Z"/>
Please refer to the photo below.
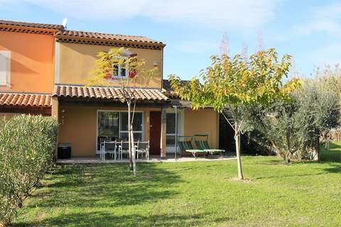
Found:
<path fill-rule="evenodd" d="M 91 76 L 90 72 L 94 69 L 94 61 L 100 51 L 108 51 L 109 46 L 104 45 L 85 45 L 75 43 L 58 43 L 59 45 L 59 72 L 57 70 L 56 82 L 60 84 L 85 84 L 85 80 Z M 163 71 L 163 50 L 149 50 L 128 48 L 130 52 L 137 54 L 146 60 L 146 69 L 153 68 L 156 61 L 159 69 L 159 76 L 153 78 L 147 85 L 136 84 L 136 86 L 161 88 Z M 56 67 L 58 67 L 56 65 Z M 59 78 L 59 79 L 58 79 Z M 119 84 L 117 84 L 119 86 Z"/>

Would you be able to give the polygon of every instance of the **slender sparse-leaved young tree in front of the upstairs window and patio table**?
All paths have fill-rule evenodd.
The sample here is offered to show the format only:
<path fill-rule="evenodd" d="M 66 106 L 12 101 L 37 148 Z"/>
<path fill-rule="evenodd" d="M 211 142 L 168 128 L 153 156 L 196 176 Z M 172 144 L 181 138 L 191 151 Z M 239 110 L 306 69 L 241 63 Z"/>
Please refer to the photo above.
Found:
<path fill-rule="evenodd" d="M 146 60 L 131 54 L 124 48 L 111 48 L 108 52 L 99 52 L 97 57 L 99 58 L 94 62 L 96 67 L 91 72 L 92 77 L 87 79 L 87 85 L 120 87 L 121 102 L 125 102 L 128 107 L 129 168 L 136 176 L 133 131 L 136 86 L 139 84 L 139 87 L 146 87 L 148 82 L 158 74 L 158 68 L 145 69 Z M 119 72 L 128 74 L 122 77 Z"/>

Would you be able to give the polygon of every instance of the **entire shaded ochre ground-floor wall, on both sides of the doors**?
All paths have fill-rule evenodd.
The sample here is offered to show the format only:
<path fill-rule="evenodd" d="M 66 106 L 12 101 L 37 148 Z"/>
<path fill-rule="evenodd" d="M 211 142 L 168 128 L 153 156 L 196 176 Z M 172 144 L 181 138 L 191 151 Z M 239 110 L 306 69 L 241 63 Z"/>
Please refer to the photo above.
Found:
<path fill-rule="evenodd" d="M 124 107 L 80 106 L 60 104 L 58 109 L 58 143 L 71 143 L 72 157 L 94 156 L 97 136 L 97 110 L 126 111 Z M 144 112 L 144 140 L 149 140 L 150 111 L 161 111 L 159 108 L 137 108 Z M 183 121 L 184 135 L 196 133 L 209 134 L 212 148 L 219 145 L 219 119 L 212 109 L 185 110 Z"/>

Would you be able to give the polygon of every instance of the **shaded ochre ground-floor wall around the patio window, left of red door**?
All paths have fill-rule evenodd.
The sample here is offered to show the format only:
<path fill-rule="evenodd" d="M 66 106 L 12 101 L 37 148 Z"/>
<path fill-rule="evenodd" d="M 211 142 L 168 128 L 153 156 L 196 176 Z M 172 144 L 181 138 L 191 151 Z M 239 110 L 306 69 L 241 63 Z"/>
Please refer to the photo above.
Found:
<path fill-rule="evenodd" d="M 126 108 L 60 104 L 58 143 L 71 143 L 72 157 L 95 155 L 97 110 L 125 111 Z M 149 140 L 149 112 L 161 111 L 161 109 L 136 108 L 136 111 L 144 111 L 144 140 Z"/>

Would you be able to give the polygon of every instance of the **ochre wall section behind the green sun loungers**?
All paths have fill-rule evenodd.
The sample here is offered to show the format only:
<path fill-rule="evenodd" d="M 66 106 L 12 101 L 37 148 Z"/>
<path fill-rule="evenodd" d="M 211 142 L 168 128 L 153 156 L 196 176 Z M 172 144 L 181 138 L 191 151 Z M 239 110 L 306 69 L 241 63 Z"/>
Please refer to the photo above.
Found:
<path fill-rule="evenodd" d="M 184 119 L 184 135 L 209 134 L 208 143 L 211 148 L 219 146 L 219 118 L 213 109 L 186 109 Z"/>

